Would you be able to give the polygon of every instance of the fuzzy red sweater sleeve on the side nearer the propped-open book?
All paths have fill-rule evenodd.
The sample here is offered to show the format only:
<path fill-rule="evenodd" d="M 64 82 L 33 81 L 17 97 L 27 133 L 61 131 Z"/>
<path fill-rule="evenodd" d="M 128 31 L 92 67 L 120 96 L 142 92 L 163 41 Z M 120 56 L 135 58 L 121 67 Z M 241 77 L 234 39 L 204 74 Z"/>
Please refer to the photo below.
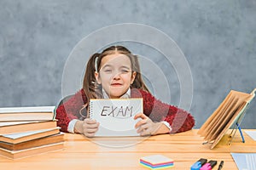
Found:
<path fill-rule="evenodd" d="M 195 126 L 195 119 L 188 111 L 179 109 L 177 106 L 167 105 L 143 90 L 139 90 L 139 93 L 143 97 L 144 114 L 153 122 L 169 122 L 172 127 L 171 133 L 188 131 Z"/>

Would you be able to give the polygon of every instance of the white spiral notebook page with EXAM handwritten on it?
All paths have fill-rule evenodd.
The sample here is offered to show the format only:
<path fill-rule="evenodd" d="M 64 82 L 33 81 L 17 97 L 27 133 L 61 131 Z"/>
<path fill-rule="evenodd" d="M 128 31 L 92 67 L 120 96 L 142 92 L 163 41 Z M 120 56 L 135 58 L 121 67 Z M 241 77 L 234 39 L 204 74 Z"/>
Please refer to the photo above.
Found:
<path fill-rule="evenodd" d="M 95 136 L 139 136 L 134 120 L 143 112 L 143 99 L 90 99 L 91 119 L 100 123 Z"/>

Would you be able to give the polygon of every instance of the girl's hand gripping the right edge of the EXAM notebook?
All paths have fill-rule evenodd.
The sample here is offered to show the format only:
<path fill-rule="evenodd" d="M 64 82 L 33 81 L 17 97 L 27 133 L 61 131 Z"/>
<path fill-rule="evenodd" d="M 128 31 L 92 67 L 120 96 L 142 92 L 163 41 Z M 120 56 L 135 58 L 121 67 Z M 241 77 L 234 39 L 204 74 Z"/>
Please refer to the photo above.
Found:
<path fill-rule="evenodd" d="M 142 120 L 135 125 L 135 128 L 138 128 L 137 133 L 140 133 L 141 136 L 158 134 L 158 130 L 162 124 L 161 122 L 152 122 L 152 120 L 143 113 L 138 113 L 134 116 L 134 120 L 137 118 L 142 118 Z"/>

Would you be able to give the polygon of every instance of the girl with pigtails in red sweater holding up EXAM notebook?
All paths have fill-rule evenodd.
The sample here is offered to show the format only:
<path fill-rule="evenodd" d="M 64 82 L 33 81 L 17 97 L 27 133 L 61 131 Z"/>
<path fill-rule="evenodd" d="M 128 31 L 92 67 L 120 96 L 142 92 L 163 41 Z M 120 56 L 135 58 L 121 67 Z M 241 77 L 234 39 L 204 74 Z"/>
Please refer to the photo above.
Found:
<path fill-rule="evenodd" d="M 142 118 L 135 126 L 141 136 L 184 132 L 195 125 L 187 111 L 164 104 L 149 93 L 137 56 L 122 46 L 109 47 L 90 57 L 83 88 L 56 110 L 61 131 L 93 137 L 99 123 L 88 118 L 87 111 L 90 99 L 96 98 L 143 98 L 143 113 L 134 116 L 135 120 Z"/>

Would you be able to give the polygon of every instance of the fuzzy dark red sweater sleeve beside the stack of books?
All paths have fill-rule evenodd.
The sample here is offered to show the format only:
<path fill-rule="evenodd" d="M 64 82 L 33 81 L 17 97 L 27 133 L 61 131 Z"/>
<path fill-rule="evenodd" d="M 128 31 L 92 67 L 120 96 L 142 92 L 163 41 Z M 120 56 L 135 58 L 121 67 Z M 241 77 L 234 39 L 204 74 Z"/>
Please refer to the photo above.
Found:
<path fill-rule="evenodd" d="M 85 100 L 84 90 L 81 89 L 56 109 L 57 125 L 61 127 L 62 132 L 68 132 L 67 127 L 70 121 L 79 119 L 79 111 L 84 103 L 86 103 Z"/>

